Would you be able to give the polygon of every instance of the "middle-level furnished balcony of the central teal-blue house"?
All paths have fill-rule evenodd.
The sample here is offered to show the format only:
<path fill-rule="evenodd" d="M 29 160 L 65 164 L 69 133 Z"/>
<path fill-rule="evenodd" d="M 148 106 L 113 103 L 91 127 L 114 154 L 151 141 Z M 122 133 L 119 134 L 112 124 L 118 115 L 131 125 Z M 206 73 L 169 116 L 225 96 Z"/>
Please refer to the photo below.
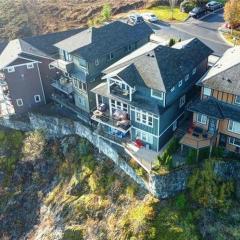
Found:
<path fill-rule="evenodd" d="M 116 110 L 111 116 L 108 109 L 101 109 L 98 107 L 93 111 L 91 118 L 92 120 L 120 131 L 123 134 L 126 134 L 131 128 L 128 114 L 122 110 Z"/>

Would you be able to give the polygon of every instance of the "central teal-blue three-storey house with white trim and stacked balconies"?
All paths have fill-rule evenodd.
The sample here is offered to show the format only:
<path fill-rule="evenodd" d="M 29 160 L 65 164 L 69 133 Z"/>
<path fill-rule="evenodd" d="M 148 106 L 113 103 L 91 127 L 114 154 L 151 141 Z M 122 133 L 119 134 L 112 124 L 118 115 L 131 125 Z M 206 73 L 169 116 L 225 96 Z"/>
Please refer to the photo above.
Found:
<path fill-rule="evenodd" d="M 99 132 L 159 151 L 196 94 L 194 85 L 206 73 L 211 53 L 198 39 L 173 47 L 149 42 L 105 69 L 106 81 L 92 89 Z"/>

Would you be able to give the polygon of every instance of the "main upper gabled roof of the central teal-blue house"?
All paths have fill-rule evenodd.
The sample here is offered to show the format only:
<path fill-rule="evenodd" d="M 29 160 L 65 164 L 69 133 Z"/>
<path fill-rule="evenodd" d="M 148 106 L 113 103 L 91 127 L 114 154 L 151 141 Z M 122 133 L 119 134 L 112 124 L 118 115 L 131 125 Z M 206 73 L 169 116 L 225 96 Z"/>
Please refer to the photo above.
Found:
<path fill-rule="evenodd" d="M 172 48 L 148 43 L 103 72 L 111 75 L 113 71 L 133 64 L 147 87 L 165 92 L 183 80 L 212 52 L 198 39 L 184 41 Z M 123 80 L 130 84 L 131 77 L 125 74 Z"/>

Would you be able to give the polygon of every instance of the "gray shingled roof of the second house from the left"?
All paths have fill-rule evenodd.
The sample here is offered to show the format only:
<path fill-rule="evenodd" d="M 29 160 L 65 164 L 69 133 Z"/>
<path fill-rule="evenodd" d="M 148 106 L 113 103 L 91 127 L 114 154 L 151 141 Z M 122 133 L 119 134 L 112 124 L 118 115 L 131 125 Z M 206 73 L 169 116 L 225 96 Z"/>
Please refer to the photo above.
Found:
<path fill-rule="evenodd" d="M 145 23 L 130 26 L 121 21 L 115 21 L 99 28 L 86 29 L 55 46 L 90 60 L 92 57 L 102 56 L 126 44 L 148 37 L 152 33 L 152 29 Z"/>

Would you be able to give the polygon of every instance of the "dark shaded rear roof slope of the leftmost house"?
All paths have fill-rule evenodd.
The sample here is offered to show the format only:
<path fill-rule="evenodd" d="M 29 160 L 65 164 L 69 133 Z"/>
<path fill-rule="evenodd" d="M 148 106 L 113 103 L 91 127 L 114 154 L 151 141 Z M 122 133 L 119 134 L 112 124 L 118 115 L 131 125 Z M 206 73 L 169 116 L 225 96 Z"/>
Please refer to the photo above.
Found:
<path fill-rule="evenodd" d="M 23 40 L 37 49 L 47 53 L 48 55 L 55 55 L 58 53 L 58 48 L 54 44 L 69 38 L 79 32 L 82 32 L 86 28 L 71 29 L 63 32 L 48 33 L 39 36 L 26 37 Z"/>

